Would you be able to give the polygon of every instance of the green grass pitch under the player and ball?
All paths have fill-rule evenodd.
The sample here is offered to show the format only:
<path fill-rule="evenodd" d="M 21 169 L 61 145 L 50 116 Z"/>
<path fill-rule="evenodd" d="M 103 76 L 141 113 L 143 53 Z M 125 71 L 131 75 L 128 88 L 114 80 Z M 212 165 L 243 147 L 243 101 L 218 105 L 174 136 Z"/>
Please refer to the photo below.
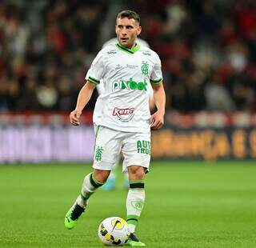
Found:
<path fill-rule="evenodd" d="M 0 247 L 103 247 L 103 218 L 126 218 L 118 171 L 113 192 L 98 191 L 74 230 L 63 225 L 91 167 L 0 166 Z M 146 247 L 256 247 L 256 162 L 152 162 L 137 229 Z"/>

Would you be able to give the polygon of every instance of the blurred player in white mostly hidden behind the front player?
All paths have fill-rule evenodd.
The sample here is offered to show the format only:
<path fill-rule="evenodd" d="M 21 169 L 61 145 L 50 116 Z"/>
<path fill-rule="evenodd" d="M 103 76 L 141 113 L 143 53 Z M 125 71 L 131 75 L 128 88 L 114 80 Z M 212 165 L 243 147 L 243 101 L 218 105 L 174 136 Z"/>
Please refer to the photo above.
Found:
<path fill-rule="evenodd" d="M 141 38 L 137 38 L 136 42 L 139 46 L 150 47 L 150 45 L 146 41 L 142 40 Z M 105 46 L 116 45 L 117 43 L 118 43 L 118 38 L 111 38 L 110 40 L 108 40 L 107 42 L 105 42 L 103 44 L 102 48 L 104 48 Z M 96 89 L 98 91 L 98 95 L 103 94 L 105 92 L 104 85 L 101 82 L 96 86 Z M 150 96 L 150 110 L 154 110 L 153 89 L 152 89 L 151 84 L 148 85 L 147 90 L 148 90 L 148 93 Z M 98 108 L 100 108 L 100 107 L 103 108 L 103 104 L 98 106 Z M 97 114 L 95 114 L 95 115 L 96 115 L 95 118 L 97 118 Z M 94 118 L 94 121 L 95 121 L 95 118 Z M 116 170 L 118 167 L 118 163 L 120 162 L 120 158 L 121 158 L 121 156 L 119 156 L 118 161 L 116 162 L 116 164 L 113 166 L 112 170 L 110 171 L 110 175 L 109 175 L 108 179 L 106 180 L 105 184 L 102 186 L 102 190 L 105 190 L 105 191 L 114 190 L 115 184 L 116 184 L 116 174 L 117 174 Z M 124 179 L 125 179 L 124 186 L 126 188 L 129 188 L 128 171 L 124 172 Z"/>

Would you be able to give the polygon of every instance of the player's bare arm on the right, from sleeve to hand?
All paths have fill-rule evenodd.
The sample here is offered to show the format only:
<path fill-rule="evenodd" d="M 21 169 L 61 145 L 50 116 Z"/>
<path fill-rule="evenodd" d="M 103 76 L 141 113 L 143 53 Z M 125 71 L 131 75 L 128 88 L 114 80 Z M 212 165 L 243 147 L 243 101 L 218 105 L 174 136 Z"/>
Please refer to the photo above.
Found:
<path fill-rule="evenodd" d="M 164 115 L 166 109 L 166 93 L 162 82 L 159 84 L 152 84 L 154 90 L 154 104 L 157 111 L 151 115 L 150 125 L 152 129 L 159 129 L 164 123 Z"/>

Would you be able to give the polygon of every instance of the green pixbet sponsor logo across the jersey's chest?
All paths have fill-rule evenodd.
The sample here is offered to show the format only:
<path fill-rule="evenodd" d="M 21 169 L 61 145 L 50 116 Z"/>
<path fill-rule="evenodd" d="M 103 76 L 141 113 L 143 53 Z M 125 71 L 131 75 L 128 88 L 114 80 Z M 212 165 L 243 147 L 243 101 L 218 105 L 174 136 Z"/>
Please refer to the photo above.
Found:
<path fill-rule="evenodd" d="M 136 82 L 133 78 L 130 78 L 128 81 L 123 81 L 122 79 L 113 82 L 112 89 L 116 90 L 146 90 L 147 82 L 144 79 L 144 82 Z"/>

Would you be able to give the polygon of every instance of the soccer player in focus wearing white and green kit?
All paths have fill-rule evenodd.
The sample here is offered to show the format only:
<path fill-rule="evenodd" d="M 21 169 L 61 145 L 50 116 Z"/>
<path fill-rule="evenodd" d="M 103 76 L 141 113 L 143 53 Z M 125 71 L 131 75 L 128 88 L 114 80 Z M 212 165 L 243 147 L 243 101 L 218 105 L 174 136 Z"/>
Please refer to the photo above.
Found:
<path fill-rule="evenodd" d="M 158 130 L 164 123 L 166 95 L 158 54 L 136 42 L 142 31 L 139 15 L 123 10 L 118 14 L 115 31 L 118 43 L 106 46 L 94 58 L 86 74 L 86 84 L 78 94 L 77 106 L 70 113 L 70 122 L 78 126 L 83 108 L 102 80 L 105 93 L 98 97 L 94 109 L 97 126 L 93 172 L 84 178 L 81 194 L 66 213 L 65 226 L 74 228 L 86 210 L 90 196 L 106 182 L 122 151 L 122 170 L 128 170 L 130 182 L 126 221 L 131 234 L 126 245 L 145 246 L 136 237 L 135 228 L 145 202 L 144 178 L 150 166 L 150 128 Z M 157 109 L 151 116 L 149 83 L 154 89 Z M 104 106 L 98 112 L 97 105 L 101 103 Z"/>

